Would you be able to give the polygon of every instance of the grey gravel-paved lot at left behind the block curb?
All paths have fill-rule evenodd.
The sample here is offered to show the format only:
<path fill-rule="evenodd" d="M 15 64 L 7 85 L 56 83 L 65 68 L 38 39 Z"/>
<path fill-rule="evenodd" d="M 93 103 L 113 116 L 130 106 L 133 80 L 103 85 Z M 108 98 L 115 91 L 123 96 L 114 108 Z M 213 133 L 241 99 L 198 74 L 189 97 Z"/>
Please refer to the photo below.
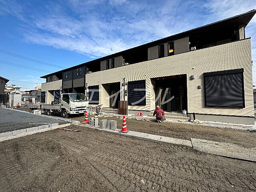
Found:
<path fill-rule="evenodd" d="M 64 121 L 61 120 L 38 116 L 32 113 L 23 113 L 20 111 L 0 108 L 0 133 L 55 122 L 59 124 L 64 123 Z"/>

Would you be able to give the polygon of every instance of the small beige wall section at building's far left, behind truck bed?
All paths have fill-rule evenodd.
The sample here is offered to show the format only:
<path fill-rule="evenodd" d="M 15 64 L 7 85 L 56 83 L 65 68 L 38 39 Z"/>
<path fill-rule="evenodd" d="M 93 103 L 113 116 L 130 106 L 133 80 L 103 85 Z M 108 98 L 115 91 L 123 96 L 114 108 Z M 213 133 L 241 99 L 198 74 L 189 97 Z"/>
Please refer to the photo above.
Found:
<path fill-rule="evenodd" d="M 62 80 L 42 83 L 41 91 L 45 91 L 45 103 L 49 103 L 54 100 L 53 90 L 61 90 L 61 85 Z"/>

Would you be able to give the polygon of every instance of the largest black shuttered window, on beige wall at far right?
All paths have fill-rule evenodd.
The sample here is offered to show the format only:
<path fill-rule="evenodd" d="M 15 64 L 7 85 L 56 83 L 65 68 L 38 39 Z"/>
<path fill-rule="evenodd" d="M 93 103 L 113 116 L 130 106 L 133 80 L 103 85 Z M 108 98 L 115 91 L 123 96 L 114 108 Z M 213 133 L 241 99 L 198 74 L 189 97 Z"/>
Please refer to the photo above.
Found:
<path fill-rule="evenodd" d="M 244 69 L 204 73 L 206 107 L 244 108 Z"/>

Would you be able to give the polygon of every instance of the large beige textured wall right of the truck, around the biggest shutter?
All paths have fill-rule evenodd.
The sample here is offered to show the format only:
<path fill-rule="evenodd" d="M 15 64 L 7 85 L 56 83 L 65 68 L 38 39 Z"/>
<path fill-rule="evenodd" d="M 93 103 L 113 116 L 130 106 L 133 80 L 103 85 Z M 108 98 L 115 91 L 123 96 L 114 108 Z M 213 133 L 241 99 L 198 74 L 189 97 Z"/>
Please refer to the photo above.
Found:
<path fill-rule="evenodd" d="M 195 68 L 192 69 L 193 67 Z M 244 68 L 245 108 L 204 107 L 204 73 L 239 68 Z M 123 77 L 126 82 L 145 79 L 146 105 L 129 106 L 128 109 L 150 111 L 155 108 L 151 78 L 180 74 L 187 75 L 189 113 L 254 116 L 250 39 L 90 73 L 87 74 L 86 81 L 88 86 L 99 85 L 102 90 L 102 84 L 118 81 L 122 84 Z M 195 79 L 190 80 L 191 75 L 194 75 Z M 202 89 L 197 89 L 198 85 L 201 85 Z M 127 86 L 125 88 L 127 89 Z M 104 102 L 104 99 L 100 91 L 100 103 Z M 125 99 L 127 100 L 127 96 Z"/>

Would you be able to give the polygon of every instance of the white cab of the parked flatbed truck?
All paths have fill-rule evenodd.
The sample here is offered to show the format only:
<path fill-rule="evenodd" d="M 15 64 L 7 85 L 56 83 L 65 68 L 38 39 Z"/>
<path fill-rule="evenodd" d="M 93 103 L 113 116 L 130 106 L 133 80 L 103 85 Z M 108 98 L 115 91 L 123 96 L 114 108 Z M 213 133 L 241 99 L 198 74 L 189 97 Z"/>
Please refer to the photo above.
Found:
<path fill-rule="evenodd" d="M 61 116 L 68 114 L 84 114 L 88 110 L 89 102 L 82 93 L 61 94 Z"/>

